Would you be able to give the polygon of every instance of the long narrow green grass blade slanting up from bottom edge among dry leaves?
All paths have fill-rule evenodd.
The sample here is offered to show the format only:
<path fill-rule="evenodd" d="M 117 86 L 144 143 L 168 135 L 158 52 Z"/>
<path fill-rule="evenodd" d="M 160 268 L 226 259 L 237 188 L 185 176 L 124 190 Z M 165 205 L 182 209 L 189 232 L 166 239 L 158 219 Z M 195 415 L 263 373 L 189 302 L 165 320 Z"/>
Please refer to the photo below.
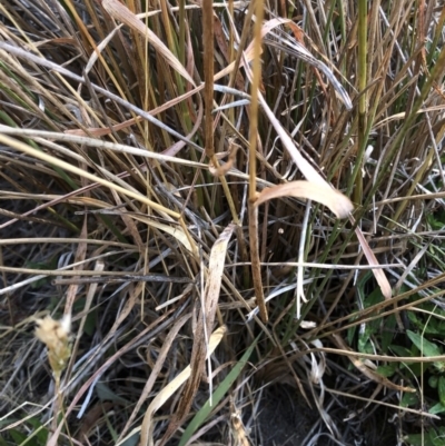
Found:
<path fill-rule="evenodd" d="M 206 404 L 198 410 L 195 415 L 190 424 L 187 426 L 186 430 L 182 434 L 182 437 L 179 442 L 179 446 L 185 446 L 194 433 L 199 428 L 199 426 L 206 420 L 206 418 L 210 415 L 211 410 L 217 406 L 217 404 L 222 399 L 222 397 L 227 394 L 230 386 L 235 383 L 236 378 L 241 373 L 243 368 L 247 364 L 251 353 L 254 351 L 255 346 L 258 343 L 258 339 L 261 335 L 259 335 L 251 346 L 246 350 L 243 355 L 241 359 L 237 363 L 237 365 L 230 370 L 230 373 L 226 376 L 224 381 L 218 386 L 218 388 L 214 392 L 210 406 L 210 400 L 207 400 Z"/>

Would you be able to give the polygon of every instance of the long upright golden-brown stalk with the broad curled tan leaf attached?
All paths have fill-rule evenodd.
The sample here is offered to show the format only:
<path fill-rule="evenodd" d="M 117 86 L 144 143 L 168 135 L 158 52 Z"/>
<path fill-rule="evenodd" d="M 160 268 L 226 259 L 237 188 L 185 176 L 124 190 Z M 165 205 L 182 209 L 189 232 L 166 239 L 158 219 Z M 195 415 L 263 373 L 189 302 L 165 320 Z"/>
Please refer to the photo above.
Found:
<path fill-rule="evenodd" d="M 250 129 L 249 129 L 249 241 L 251 276 L 254 280 L 255 296 L 257 299 L 261 320 L 266 324 L 268 320 L 267 308 L 263 290 L 261 266 L 259 259 L 258 242 L 258 207 L 257 200 L 257 138 L 258 138 L 258 89 L 261 80 L 261 28 L 264 17 L 264 0 L 255 2 L 255 27 L 254 27 L 254 60 L 253 60 L 253 80 L 251 80 L 251 101 L 250 101 Z"/>

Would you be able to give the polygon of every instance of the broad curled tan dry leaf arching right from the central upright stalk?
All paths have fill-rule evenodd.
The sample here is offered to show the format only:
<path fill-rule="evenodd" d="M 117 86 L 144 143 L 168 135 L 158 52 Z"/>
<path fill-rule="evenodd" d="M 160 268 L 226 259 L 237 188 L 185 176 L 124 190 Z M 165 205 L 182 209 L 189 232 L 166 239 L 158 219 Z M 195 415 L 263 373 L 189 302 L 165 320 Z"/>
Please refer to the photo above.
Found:
<path fill-rule="evenodd" d="M 338 218 L 346 218 L 354 206 L 349 198 L 328 186 L 310 181 L 291 181 L 264 189 L 255 201 L 256 206 L 274 198 L 296 197 L 314 200 L 327 206 Z"/>

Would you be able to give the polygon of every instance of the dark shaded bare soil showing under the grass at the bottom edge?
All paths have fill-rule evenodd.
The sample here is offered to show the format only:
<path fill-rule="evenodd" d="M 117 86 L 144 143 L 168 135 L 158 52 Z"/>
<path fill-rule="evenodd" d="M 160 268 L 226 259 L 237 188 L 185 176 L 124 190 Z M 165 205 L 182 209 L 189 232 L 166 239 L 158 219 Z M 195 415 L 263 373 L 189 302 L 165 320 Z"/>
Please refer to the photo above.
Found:
<path fill-rule="evenodd" d="M 325 410 L 336 427 L 337 439 L 322 420 L 315 404 L 309 407 L 298 390 L 275 384 L 264 392 L 257 417 L 250 427 L 255 446 L 386 446 L 396 445 L 396 426 L 392 412 L 374 405 L 355 407 L 354 399 L 327 396 Z"/>

